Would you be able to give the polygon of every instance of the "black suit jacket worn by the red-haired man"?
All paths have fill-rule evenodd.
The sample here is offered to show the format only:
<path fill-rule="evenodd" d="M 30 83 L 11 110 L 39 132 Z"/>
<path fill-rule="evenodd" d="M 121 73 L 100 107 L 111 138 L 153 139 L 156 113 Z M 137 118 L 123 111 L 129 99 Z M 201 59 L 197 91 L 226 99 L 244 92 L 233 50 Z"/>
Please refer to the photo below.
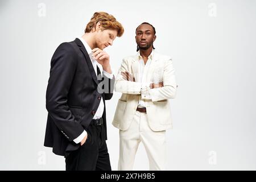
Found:
<path fill-rule="evenodd" d="M 51 60 L 44 146 L 52 147 L 53 153 L 63 156 L 66 151 L 77 150 L 80 144 L 73 139 L 89 126 L 100 100 L 103 99 L 105 105 L 105 100 L 112 98 L 113 85 L 114 79 L 104 75 L 102 80 L 97 79 L 88 52 L 79 39 L 60 44 Z M 105 107 L 102 118 L 106 130 Z"/>

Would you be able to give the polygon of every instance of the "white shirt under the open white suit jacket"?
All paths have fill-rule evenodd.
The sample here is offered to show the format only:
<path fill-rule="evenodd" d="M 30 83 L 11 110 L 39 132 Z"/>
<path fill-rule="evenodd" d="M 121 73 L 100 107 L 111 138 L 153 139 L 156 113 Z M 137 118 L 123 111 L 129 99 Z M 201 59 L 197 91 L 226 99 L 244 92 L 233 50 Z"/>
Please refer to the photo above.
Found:
<path fill-rule="evenodd" d="M 139 81 L 138 82 L 141 82 L 142 89 L 145 89 L 150 86 L 150 83 L 147 82 L 147 73 L 148 73 L 148 68 L 150 67 L 150 63 L 154 56 L 154 50 L 152 50 L 151 54 L 148 56 L 148 60 L 147 60 L 146 64 L 144 64 L 144 60 L 139 52 L 138 52 L 137 56 L 138 56 L 138 61 L 139 61 Z M 149 97 L 150 96 L 147 96 L 147 99 Z M 146 104 L 142 98 L 140 98 L 140 100 L 139 100 L 138 107 L 146 107 Z"/>

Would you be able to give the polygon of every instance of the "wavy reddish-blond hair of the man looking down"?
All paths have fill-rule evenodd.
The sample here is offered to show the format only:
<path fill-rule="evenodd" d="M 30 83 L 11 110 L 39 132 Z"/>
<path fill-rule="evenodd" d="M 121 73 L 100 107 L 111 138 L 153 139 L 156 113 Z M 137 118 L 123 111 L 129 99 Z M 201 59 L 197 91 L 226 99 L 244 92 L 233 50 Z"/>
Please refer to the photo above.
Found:
<path fill-rule="evenodd" d="M 95 27 L 98 22 L 101 22 L 102 30 L 114 29 L 117 30 L 118 37 L 123 35 L 124 29 L 122 24 L 119 23 L 113 15 L 110 15 L 106 12 L 94 13 L 90 19 L 90 22 L 86 25 L 84 32 L 91 32 L 93 27 Z"/>

